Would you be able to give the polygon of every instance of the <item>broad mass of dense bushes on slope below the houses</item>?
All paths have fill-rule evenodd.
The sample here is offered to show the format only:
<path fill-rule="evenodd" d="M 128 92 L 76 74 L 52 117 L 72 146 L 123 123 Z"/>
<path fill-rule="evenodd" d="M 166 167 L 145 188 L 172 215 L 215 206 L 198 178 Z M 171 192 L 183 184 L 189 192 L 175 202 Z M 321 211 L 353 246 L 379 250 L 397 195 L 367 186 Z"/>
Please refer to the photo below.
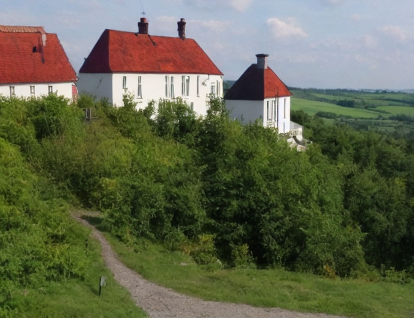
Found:
<path fill-rule="evenodd" d="M 157 112 L 124 103 L 3 100 L 0 137 L 67 199 L 103 210 L 103 226 L 126 241 L 157 239 L 203 264 L 329 276 L 367 263 L 413 268 L 414 160 L 404 144 L 293 113 L 314 141 L 298 153 L 271 129 L 231 121 L 218 99 L 205 118 L 181 100 L 159 101 Z"/>

